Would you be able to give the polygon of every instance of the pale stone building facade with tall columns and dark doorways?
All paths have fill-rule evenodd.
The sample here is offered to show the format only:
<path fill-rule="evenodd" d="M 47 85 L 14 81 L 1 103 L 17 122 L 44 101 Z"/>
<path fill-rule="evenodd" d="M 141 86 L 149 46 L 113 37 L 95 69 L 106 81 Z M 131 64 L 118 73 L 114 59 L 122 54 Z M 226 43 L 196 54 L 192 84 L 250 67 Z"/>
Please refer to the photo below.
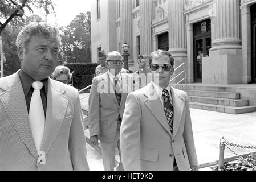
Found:
<path fill-rule="evenodd" d="M 94 63 L 126 41 L 133 71 L 137 55 L 165 49 L 188 82 L 256 82 L 256 0 L 93 0 L 91 24 Z"/>

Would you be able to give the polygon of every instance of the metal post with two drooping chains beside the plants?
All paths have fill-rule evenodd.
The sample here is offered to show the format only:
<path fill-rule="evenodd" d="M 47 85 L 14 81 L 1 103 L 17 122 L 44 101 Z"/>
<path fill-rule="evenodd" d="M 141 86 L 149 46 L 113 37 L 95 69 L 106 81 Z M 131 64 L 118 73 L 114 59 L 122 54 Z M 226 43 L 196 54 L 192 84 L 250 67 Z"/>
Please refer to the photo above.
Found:
<path fill-rule="evenodd" d="M 242 162 L 248 164 L 249 166 L 253 167 L 253 169 L 256 170 L 256 166 L 254 166 L 252 163 L 248 162 L 245 158 L 243 158 L 242 156 L 238 155 L 234 150 L 232 150 L 229 146 L 234 146 L 234 147 L 238 147 L 238 148 L 248 148 L 248 149 L 256 149 L 256 147 L 254 146 L 243 146 L 243 145 L 239 145 L 239 144 L 234 144 L 234 143 L 229 143 L 226 142 L 226 140 L 224 139 L 224 137 L 221 138 L 220 140 L 220 144 L 224 144 L 224 146 L 226 146 L 231 152 L 233 152 L 233 154 L 235 154 L 237 156 L 237 158 L 239 160 L 241 160 Z M 221 149 L 221 148 L 220 148 Z M 224 158 L 224 148 L 222 148 L 222 156 L 220 156 L 220 158 Z M 223 164 L 221 164 L 222 166 Z M 220 167 L 220 166 L 219 166 Z"/>

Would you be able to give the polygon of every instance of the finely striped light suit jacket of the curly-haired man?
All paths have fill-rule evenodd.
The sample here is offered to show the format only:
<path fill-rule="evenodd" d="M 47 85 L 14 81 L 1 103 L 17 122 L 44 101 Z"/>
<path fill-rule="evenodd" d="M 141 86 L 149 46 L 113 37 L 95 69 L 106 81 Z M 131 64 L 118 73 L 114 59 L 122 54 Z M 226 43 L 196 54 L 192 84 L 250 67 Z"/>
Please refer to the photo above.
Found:
<path fill-rule="evenodd" d="M 0 168 L 2 170 L 88 170 L 78 91 L 49 78 L 46 121 L 37 151 L 18 72 L 0 78 Z"/>

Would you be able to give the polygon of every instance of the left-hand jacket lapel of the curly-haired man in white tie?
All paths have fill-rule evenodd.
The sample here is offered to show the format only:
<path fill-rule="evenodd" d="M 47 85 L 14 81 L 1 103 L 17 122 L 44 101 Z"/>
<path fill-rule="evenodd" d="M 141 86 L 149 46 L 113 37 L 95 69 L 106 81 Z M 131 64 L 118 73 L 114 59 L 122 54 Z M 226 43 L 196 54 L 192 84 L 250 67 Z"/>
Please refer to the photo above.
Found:
<path fill-rule="evenodd" d="M 19 137 L 21 137 L 31 154 L 37 158 L 37 151 L 29 123 L 29 114 L 18 72 L 6 79 L 5 85 L 1 86 L 6 92 L 0 96 L 0 99 L 3 101 L 6 112 Z"/>

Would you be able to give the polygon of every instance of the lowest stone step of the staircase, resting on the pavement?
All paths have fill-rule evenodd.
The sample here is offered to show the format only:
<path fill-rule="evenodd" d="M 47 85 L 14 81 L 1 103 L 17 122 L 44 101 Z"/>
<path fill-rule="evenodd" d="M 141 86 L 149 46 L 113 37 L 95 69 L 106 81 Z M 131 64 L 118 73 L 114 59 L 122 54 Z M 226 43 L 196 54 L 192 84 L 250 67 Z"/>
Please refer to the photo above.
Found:
<path fill-rule="evenodd" d="M 242 114 L 242 113 L 251 113 L 256 111 L 256 107 L 254 106 L 232 107 L 232 106 L 205 104 L 205 103 L 199 103 L 199 102 L 189 102 L 189 106 L 194 109 L 204 109 L 204 110 L 217 111 L 220 113 L 229 113 L 229 114 Z"/>

